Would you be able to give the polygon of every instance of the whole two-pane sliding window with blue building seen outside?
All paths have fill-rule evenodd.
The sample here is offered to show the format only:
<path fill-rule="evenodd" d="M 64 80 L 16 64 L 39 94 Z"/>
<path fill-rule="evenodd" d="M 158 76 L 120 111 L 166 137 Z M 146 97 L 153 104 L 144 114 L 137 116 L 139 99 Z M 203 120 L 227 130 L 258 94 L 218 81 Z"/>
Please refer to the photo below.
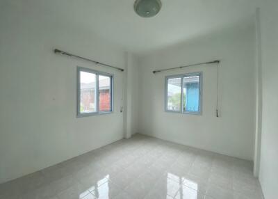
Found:
<path fill-rule="evenodd" d="M 166 77 L 166 111 L 201 113 L 202 73 Z"/>

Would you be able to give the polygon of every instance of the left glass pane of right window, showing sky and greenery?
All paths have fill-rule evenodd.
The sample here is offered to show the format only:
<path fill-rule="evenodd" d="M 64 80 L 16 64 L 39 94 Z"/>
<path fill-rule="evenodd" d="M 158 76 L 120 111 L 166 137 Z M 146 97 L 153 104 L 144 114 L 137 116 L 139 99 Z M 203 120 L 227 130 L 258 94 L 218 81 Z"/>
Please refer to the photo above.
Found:
<path fill-rule="evenodd" d="M 169 78 L 167 84 L 167 110 L 181 111 L 181 78 Z"/>

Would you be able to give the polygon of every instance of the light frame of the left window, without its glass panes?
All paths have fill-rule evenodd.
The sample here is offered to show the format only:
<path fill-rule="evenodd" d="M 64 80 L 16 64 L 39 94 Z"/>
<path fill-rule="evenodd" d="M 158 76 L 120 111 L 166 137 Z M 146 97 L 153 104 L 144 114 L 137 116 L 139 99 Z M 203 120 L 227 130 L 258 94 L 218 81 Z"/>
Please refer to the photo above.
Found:
<path fill-rule="evenodd" d="M 81 90 L 80 90 L 80 74 L 81 72 L 89 72 L 92 74 L 96 75 L 96 96 L 95 96 L 95 103 L 97 104 L 97 110 L 95 112 L 91 113 L 81 113 L 80 112 L 80 102 L 81 102 Z M 99 111 L 99 75 L 107 76 L 110 77 L 110 107 L 111 109 L 109 111 Z M 81 117 L 86 117 L 86 116 L 98 116 L 98 115 L 103 115 L 103 114 L 109 114 L 113 113 L 113 102 L 114 102 L 114 97 L 113 97 L 113 92 L 114 92 L 114 76 L 113 74 L 109 74 L 106 72 L 100 72 L 97 70 L 92 70 L 87 67 L 77 67 L 77 118 Z"/>

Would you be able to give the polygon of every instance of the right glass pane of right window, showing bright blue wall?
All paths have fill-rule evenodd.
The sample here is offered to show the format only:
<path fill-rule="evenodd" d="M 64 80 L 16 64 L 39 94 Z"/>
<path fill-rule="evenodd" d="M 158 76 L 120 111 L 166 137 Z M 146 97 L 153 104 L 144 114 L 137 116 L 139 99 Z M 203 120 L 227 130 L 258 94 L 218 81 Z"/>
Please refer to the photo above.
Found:
<path fill-rule="evenodd" d="M 199 111 L 199 75 L 183 78 L 183 111 Z"/>

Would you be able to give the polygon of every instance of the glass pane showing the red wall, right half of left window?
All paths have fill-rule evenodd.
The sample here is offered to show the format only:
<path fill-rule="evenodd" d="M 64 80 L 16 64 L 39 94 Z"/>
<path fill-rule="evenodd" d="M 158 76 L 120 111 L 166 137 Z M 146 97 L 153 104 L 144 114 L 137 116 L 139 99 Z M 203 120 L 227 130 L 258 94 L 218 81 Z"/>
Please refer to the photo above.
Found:
<path fill-rule="evenodd" d="M 111 111 L 111 77 L 99 75 L 99 111 Z"/>

